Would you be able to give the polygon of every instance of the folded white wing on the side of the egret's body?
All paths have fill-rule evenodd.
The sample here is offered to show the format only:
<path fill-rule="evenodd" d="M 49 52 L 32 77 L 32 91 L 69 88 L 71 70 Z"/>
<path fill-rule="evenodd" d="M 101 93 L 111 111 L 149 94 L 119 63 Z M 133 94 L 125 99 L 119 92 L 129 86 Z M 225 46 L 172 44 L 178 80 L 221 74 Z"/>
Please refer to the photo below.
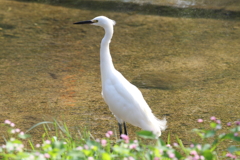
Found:
<path fill-rule="evenodd" d="M 124 121 L 139 126 L 139 117 L 146 120 L 152 114 L 151 109 L 144 100 L 140 90 L 126 80 L 121 73 L 116 71 L 113 77 L 103 85 L 105 102 L 115 116 Z"/>

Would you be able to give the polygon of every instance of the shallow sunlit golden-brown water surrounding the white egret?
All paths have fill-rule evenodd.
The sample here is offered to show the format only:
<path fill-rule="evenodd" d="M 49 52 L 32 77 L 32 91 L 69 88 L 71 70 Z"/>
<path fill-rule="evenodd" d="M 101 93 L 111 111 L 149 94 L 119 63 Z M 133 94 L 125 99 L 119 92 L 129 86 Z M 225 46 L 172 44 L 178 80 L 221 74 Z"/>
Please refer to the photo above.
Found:
<path fill-rule="evenodd" d="M 73 130 L 88 126 L 95 137 L 118 129 L 100 94 L 103 30 L 72 24 L 98 15 L 116 20 L 115 67 L 140 87 L 157 117 L 166 116 L 163 139 L 171 133 L 189 144 L 191 129 L 208 127 L 211 116 L 224 124 L 239 119 L 239 18 L 83 6 L 0 1 L 0 121 L 27 130 L 55 118 Z M 198 118 L 206 123 L 199 126 Z M 140 129 L 128 128 L 135 138 Z M 42 129 L 31 132 L 40 135 Z"/>

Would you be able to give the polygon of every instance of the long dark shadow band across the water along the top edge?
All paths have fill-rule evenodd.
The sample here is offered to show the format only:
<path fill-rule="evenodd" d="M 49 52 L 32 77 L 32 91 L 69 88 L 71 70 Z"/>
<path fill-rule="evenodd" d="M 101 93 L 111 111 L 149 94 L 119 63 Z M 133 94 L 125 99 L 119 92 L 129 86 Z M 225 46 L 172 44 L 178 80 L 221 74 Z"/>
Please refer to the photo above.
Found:
<path fill-rule="evenodd" d="M 17 0 L 24 2 L 36 2 L 36 0 Z M 204 9 L 204 8 L 178 8 L 174 6 L 162 6 L 155 4 L 136 4 L 132 2 L 119 1 L 85 1 L 85 0 L 39 0 L 39 3 L 48 3 L 52 5 L 61 5 L 64 7 L 73 7 L 79 9 L 91 9 L 96 11 L 111 12 L 137 12 L 147 15 L 159 15 L 167 17 L 185 17 L 185 18 L 212 18 L 212 19 L 228 19 L 240 20 L 239 11 L 220 9 Z"/>

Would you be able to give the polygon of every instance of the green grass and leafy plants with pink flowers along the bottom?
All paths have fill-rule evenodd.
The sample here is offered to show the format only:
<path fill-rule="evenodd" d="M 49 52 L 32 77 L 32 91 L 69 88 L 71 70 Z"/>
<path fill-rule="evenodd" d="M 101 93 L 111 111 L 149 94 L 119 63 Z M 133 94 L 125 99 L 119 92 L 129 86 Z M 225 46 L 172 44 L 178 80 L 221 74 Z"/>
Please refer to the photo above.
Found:
<path fill-rule="evenodd" d="M 198 119 L 199 125 L 203 122 Z M 15 124 L 5 120 L 4 126 L 8 128 L 9 137 L 4 138 L 5 144 L 0 147 L 0 158 L 3 160 L 111 160 L 111 159 L 146 159 L 146 160 L 219 160 L 240 159 L 240 121 L 235 124 L 228 123 L 229 132 L 221 133 L 222 125 L 219 119 L 211 117 L 209 130 L 193 129 L 196 136 L 200 136 L 198 143 L 185 146 L 176 136 L 177 143 L 171 144 L 170 135 L 167 143 L 161 138 L 156 139 L 149 131 L 137 132 L 138 139 L 130 140 L 127 135 L 122 139 L 113 140 L 112 131 L 108 131 L 103 139 L 95 139 L 89 131 L 79 131 L 79 136 L 73 136 L 66 124 L 55 122 L 41 122 L 44 132 L 42 143 L 34 143 L 30 135 L 15 127 Z M 50 132 L 49 125 L 53 125 L 55 132 Z M 27 131 L 28 132 L 28 131 Z M 148 144 L 151 140 L 154 143 Z M 217 148 L 231 142 L 226 151 L 217 152 Z M 29 147 L 26 147 L 29 145 Z"/>

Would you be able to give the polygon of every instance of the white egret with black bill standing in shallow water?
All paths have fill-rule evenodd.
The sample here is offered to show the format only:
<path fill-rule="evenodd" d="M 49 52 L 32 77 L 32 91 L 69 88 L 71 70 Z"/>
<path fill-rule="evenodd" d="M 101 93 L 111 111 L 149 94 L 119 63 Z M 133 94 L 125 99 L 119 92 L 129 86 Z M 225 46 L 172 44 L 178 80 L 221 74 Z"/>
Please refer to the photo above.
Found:
<path fill-rule="evenodd" d="M 122 134 L 122 124 L 127 135 L 125 124 L 127 122 L 143 130 L 152 131 L 159 137 L 161 131 L 166 129 L 166 119 L 159 120 L 156 118 L 140 90 L 114 68 L 109 44 L 113 36 L 113 26 L 116 22 L 105 16 L 98 16 L 92 20 L 74 24 L 92 24 L 103 27 L 105 30 L 100 47 L 102 97 L 118 121 L 120 136 Z"/>

